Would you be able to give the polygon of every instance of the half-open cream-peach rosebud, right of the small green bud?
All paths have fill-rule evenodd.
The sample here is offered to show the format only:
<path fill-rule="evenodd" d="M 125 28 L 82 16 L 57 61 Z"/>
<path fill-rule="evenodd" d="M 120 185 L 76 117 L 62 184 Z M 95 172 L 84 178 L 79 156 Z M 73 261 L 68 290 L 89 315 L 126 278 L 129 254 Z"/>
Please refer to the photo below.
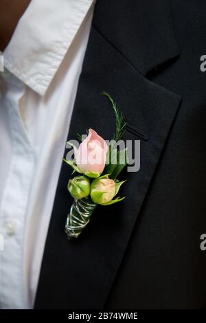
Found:
<path fill-rule="evenodd" d="M 91 199 L 96 204 L 110 202 L 115 196 L 115 181 L 113 179 L 95 179 L 91 183 Z"/>

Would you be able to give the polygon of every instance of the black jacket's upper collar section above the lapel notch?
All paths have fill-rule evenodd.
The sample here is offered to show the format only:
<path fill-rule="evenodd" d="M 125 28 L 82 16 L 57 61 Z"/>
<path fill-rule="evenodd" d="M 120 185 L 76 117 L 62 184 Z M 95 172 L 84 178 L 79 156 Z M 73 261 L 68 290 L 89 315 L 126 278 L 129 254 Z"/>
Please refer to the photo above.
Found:
<path fill-rule="evenodd" d="M 143 75 L 179 56 L 168 0 L 98 0 L 93 25 Z"/>

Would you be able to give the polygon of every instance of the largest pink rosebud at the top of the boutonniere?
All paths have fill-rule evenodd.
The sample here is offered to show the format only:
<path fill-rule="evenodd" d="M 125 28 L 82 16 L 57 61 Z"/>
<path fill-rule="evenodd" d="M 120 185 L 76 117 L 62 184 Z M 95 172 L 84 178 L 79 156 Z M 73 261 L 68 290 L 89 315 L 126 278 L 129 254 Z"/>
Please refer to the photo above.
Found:
<path fill-rule="evenodd" d="M 108 146 L 104 139 L 93 129 L 80 144 L 76 155 L 78 168 L 87 176 L 98 177 L 104 170 Z"/>

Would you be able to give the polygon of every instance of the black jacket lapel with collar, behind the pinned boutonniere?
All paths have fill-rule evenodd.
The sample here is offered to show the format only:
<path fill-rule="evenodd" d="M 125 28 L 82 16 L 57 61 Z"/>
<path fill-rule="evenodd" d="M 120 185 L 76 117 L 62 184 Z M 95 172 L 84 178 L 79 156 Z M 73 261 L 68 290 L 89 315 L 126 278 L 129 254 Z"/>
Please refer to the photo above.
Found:
<path fill-rule="evenodd" d="M 108 3 L 109 14 L 104 12 L 105 2 Z M 165 9 L 163 5 L 159 11 L 163 9 L 161 13 L 165 22 L 169 21 L 165 30 L 167 37 L 170 30 L 167 48 L 172 49 L 167 49 L 164 56 L 158 47 L 161 61 L 156 54 L 153 61 L 150 56 L 143 63 L 141 58 L 135 56 L 139 44 L 134 39 L 127 48 L 121 47 L 124 41 L 128 41 L 124 36 L 124 24 L 118 28 L 113 26 L 111 17 L 115 14 L 121 16 L 124 3 L 104 0 L 98 1 L 96 5 L 68 140 L 76 139 L 77 133 L 85 133 L 89 127 L 98 131 L 102 137 L 111 139 L 115 120 L 110 104 L 100 96 L 102 91 L 108 91 L 128 120 L 125 140 L 141 139 L 141 168 L 139 172 L 124 175 L 124 178 L 128 177 L 128 183 L 122 190 L 126 196 L 124 202 L 97 208 L 82 236 L 70 242 L 67 241 L 64 227 L 72 203 L 67 192 L 71 171 L 66 164 L 62 164 L 43 256 L 36 308 L 89 309 L 104 306 L 181 101 L 177 94 L 142 76 L 166 58 L 178 54 L 170 30 L 170 19 L 165 17 L 168 18 L 168 7 Z M 135 5 L 137 1 L 130 3 Z M 133 10 L 135 8 L 137 12 L 138 8 L 134 7 Z M 130 8 L 124 10 L 125 16 L 131 11 Z M 118 38 L 118 32 L 121 34 L 123 45 L 111 43 L 108 31 L 102 29 L 104 23 L 101 19 L 108 19 L 108 25 L 111 28 L 113 26 L 111 36 L 114 40 Z M 146 18 L 144 16 L 141 19 L 144 21 Z M 150 23 L 154 23 L 155 18 L 152 19 Z M 133 20 L 130 17 L 130 25 L 136 27 L 135 23 L 135 17 Z M 163 35 L 161 28 L 160 32 Z M 155 33 L 158 34 L 158 30 Z"/>

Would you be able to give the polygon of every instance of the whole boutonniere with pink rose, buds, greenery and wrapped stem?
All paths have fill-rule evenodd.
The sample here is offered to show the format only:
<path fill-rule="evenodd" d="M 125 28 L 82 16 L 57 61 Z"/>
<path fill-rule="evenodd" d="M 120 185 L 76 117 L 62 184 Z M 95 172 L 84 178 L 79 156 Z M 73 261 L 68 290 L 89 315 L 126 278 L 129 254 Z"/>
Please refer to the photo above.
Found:
<path fill-rule="evenodd" d="M 119 173 L 128 163 L 127 150 L 118 148 L 122 139 L 126 122 L 123 113 L 119 112 L 113 98 L 103 92 L 102 95 L 110 100 L 115 114 L 115 133 L 111 141 L 106 142 L 96 131 L 89 129 L 87 137 L 73 147 L 74 160 L 63 159 L 77 176 L 69 179 L 68 190 L 73 197 L 73 204 L 67 216 L 65 232 L 69 240 L 78 238 L 91 219 L 95 208 L 120 202 L 119 188 L 125 181 L 119 181 Z M 82 136 L 79 135 L 82 138 Z M 72 174 L 73 174 L 72 173 Z"/>

